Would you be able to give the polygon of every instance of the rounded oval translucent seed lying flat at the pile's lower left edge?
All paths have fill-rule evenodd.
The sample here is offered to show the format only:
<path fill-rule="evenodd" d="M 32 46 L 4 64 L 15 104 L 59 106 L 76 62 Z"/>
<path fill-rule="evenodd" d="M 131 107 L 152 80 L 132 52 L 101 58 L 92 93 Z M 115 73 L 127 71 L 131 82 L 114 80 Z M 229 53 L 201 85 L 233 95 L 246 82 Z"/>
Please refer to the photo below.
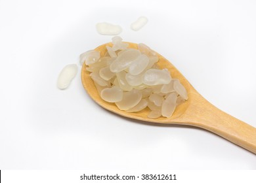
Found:
<path fill-rule="evenodd" d="M 100 97 L 109 103 L 119 102 L 123 99 L 123 90 L 117 86 L 105 88 L 100 92 Z"/>

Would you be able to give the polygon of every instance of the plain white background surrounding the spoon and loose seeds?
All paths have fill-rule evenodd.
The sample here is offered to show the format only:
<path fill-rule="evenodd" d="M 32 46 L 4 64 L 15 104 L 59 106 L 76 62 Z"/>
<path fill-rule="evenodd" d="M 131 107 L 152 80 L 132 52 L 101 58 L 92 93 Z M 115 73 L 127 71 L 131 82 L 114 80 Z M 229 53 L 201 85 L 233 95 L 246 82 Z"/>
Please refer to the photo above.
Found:
<path fill-rule="evenodd" d="M 0 0 L 0 169 L 256 169 L 256 156 L 196 127 L 122 118 L 61 69 L 123 27 L 213 105 L 256 127 L 256 1 Z M 129 26 L 148 17 L 140 31 Z M 81 67 L 79 66 L 79 69 Z"/>

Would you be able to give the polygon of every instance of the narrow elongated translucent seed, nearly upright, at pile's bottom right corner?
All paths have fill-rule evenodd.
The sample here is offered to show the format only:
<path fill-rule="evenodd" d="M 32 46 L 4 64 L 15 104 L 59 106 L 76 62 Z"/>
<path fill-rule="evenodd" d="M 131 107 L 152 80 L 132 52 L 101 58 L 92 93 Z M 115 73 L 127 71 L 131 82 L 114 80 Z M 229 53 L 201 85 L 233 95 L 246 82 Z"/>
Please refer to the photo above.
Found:
<path fill-rule="evenodd" d="M 161 105 L 161 115 L 169 118 L 176 107 L 177 95 L 175 93 L 170 93 L 167 99 L 163 101 Z"/>

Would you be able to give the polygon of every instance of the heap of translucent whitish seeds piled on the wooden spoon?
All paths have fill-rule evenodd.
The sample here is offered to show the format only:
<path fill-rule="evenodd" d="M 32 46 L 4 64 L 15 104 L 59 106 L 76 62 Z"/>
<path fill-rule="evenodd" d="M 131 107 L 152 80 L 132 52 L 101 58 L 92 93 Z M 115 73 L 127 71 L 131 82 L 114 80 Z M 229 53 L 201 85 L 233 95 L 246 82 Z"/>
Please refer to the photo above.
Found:
<path fill-rule="evenodd" d="M 80 56 L 80 63 L 95 82 L 100 97 L 115 103 L 120 110 L 139 112 L 150 108 L 148 118 L 169 118 L 177 105 L 188 99 L 186 89 L 167 69 L 159 69 L 158 56 L 145 44 L 138 50 L 128 48 L 121 37 L 113 37 L 108 52 L 89 50 Z"/>

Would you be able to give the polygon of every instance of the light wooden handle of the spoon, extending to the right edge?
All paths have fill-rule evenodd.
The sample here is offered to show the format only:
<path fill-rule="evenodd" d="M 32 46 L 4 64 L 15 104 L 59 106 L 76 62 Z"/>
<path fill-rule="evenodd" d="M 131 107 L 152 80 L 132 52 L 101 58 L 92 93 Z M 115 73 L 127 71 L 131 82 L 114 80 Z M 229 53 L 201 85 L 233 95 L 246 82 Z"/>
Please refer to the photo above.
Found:
<path fill-rule="evenodd" d="M 230 142 L 256 154 L 256 128 L 226 114 L 204 99 L 194 96 L 196 103 L 190 105 L 182 121 L 184 124 L 202 127 L 224 137 Z"/>

